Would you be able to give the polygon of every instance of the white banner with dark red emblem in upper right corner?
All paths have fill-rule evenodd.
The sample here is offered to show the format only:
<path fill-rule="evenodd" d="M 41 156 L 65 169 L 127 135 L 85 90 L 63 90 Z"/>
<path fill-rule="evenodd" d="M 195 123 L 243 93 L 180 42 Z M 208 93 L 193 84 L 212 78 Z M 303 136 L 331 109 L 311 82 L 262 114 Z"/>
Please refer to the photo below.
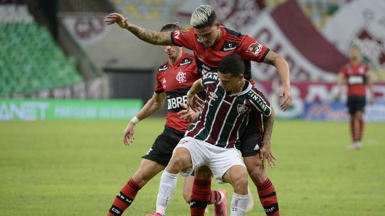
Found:
<path fill-rule="evenodd" d="M 385 1 L 355 0 L 341 7 L 328 21 L 323 35 L 342 53 L 351 45 L 375 70 L 385 70 Z"/>

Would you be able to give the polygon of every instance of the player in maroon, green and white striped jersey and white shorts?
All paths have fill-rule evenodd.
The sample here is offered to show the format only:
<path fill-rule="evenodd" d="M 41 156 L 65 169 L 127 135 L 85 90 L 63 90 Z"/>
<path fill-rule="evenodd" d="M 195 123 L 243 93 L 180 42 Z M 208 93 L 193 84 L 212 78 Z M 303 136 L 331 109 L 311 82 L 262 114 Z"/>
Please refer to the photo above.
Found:
<path fill-rule="evenodd" d="M 192 216 L 203 216 L 211 191 L 211 176 L 218 183 L 230 183 L 234 194 L 231 200 L 231 216 L 245 213 L 248 189 L 247 169 L 236 149 L 237 141 L 244 133 L 249 116 L 258 116 L 259 143 L 270 144 L 274 112 L 266 97 L 244 80 L 242 58 L 232 53 L 218 65 L 218 73 L 206 73 L 195 81 L 187 92 L 187 107 L 199 91 L 206 92 L 206 100 L 198 121 L 189 126 L 185 137 L 176 146 L 172 158 L 164 169 L 157 196 L 156 213 L 147 216 L 166 215 L 166 208 L 176 187 L 177 175 L 189 176 L 195 169 L 191 194 Z M 273 163 L 272 155 L 268 160 Z M 274 206 L 269 209 L 274 211 Z"/>

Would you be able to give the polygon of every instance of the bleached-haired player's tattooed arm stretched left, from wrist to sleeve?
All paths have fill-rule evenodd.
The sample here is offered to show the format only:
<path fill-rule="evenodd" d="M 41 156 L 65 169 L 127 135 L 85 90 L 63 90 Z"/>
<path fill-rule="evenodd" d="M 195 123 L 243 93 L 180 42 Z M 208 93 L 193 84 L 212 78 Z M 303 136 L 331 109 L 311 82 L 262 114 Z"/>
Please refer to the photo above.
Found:
<path fill-rule="evenodd" d="M 130 26 L 127 30 L 144 42 L 151 43 L 153 45 L 175 46 L 174 43 L 172 43 L 170 32 L 156 32 L 154 30 L 142 28 L 136 25 Z"/>

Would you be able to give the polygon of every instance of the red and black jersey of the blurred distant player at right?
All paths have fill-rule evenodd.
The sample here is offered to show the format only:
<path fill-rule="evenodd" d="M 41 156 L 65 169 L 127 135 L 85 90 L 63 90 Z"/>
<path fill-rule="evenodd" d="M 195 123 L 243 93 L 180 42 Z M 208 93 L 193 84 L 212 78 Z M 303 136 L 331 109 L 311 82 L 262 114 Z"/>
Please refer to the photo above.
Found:
<path fill-rule="evenodd" d="M 369 66 L 352 62 L 342 67 L 341 72 L 348 83 L 348 95 L 366 95 L 366 83 L 369 76 Z"/>

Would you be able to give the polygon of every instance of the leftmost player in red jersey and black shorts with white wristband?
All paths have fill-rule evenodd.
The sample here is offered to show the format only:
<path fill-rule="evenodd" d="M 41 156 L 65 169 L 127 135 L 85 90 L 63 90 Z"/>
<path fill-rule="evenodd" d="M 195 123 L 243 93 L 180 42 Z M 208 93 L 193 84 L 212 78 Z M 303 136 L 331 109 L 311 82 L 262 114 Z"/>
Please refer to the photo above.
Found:
<path fill-rule="evenodd" d="M 170 32 L 178 30 L 180 27 L 175 23 L 164 25 L 161 32 Z M 123 186 L 119 194 L 114 199 L 109 210 L 108 216 L 120 216 L 126 210 L 139 191 L 150 179 L 162 171 L 168 164 L 172 151 L 184 136 L 189 122 L 181 120 L 178 111 L 182 110 L 180 103 L 186 103 L 186 93 L 191 88 L 194 81 L 198 80 L 201 75 L 197 73 L 194 56 L 182 52 L 180 47 L 162 46 L 168 61 L 159 66 L 156 75 L 156 88 L 152 98 L 147 101 L 146 105 L 132 118 L 124 130 L 123 141 L 125 145 L 134 140 L 134 130 L 136 123 L 148 116 L 154 114 L 161 108 L 167 97 L 167 119 L 164 131 L 159 135 L 147 152 L 143 156 L 143 160 L 138 170 Z M 191 114 L 191 112 L 189 112 Z M 196 118 L 192 115 L 191 118 Z M 128 141 L 127 141 L 128 139 Z M 190 203 L 191 188 L 194 177 L 185 178 L 183 187 L 183 197 L 187 203 Z M 215 208 L 224 208 L 221 205 L 226 203 L 226 191 L 211 191 L 209 204 L 216 204 Z M 220 209 L 217 209 L 219 211 Z"/>

